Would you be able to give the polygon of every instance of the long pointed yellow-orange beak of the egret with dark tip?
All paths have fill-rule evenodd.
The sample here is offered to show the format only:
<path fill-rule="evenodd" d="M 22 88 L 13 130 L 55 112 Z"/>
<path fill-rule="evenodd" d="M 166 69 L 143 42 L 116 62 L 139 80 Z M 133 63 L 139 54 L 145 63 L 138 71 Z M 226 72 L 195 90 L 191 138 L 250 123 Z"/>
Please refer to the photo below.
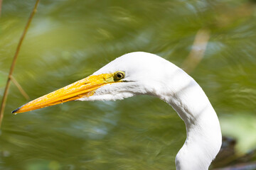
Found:
<path fill-rule="evenodd" d="M 61 89 L 36 98 L 33 101 L 26 103 L 25 105 L 12 111 L 12 113 L 23 113 L 27 111 L 33 111 L 38 108 L 44 108 L 47 106 L 53 106 L 59 103 L 64 103 L 67 101 L 74 101 L 78 98 L 92 96 L 96 89 L 106 84 L 112 84 L 115 82 L 114 74 L 100 74 L 96 76 L 90 76 L 85 79 L 76 81 L 73 84 L 65 86 Z"/>

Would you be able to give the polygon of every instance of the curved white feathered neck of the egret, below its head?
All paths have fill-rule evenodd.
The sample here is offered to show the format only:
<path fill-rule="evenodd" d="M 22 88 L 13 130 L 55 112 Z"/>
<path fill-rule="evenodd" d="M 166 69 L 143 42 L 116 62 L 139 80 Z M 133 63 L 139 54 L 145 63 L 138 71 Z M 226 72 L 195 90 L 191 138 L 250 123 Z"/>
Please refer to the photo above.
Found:
<path fill-rule="evenodd" d="M 168 88 L 157 89 L 156 96 L 169 103 L 186 124 L 186 142 L 176 155 L 176 169 L 206 170 L 220 150 L 220 123 L 201 87 L 175 69 L 163 84 Z"/>

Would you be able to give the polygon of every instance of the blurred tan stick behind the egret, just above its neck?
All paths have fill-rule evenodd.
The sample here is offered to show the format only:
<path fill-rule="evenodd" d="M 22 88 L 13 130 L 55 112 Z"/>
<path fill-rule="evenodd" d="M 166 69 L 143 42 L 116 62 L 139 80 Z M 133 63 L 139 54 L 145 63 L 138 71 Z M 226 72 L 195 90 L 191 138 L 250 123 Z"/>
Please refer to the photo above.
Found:
<path fill-rule="evenodd" d="M 196 38 L 193 42 L 192 50 L 182 64 L 182 68 L 187 73 L 193 72 L 193 70 L 196 69 L 197 65 L 203 59 L 209 38 L 210 32 L 208 30 L 201 29 L 196 33 Z"/>

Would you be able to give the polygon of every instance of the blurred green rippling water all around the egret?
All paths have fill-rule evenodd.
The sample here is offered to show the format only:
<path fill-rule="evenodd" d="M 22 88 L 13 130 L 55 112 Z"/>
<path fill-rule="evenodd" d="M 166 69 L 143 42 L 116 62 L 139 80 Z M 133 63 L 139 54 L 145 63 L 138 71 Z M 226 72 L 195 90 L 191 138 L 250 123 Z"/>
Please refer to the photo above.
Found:
<path fill-rule="evenodd" d="M 35 0 L 4 0 L 0 17 L 0 97 Z M 82 79 L 127 52 L 182 66 L 198 30 L 203 60 L 191 72 L 235 150 L 215 167 L 256 161 L 256 1 L 41 0 L 14 77 L 38 98 Z M 1 101 L 1 99 L 0 99 Z M 0 135 L 0 169 L 175 169 L 183 121 L 151 96 L 79 102 L 12 115 L 28 102 L 11 84 Z M 250 157 L 249 157 L 249 156 Z M 216 160 L 217 161 L 217 160 Z"/>

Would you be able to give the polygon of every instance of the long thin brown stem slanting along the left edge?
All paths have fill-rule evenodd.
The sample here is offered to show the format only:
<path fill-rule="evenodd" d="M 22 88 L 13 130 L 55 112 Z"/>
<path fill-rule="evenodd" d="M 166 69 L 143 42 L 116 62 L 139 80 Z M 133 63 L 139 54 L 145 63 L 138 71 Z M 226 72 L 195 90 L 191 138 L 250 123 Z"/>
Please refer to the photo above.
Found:
<path fill-rule="evenodd" d="M 39 1 L 40 0 L 36 0 L 36 4 L 33 7 L 33 11 L 31 13 L 31 16 L 29 16 L 29 18 L 28 18 L 28 22 L 26 23 L 26 26 L 25 26 L 25 28 L 23 30 L 22 35 L 21 35 L 21 39 L 18 42 L 18 46 L 17 46 L 16 52 L 15 52 L 15 55 L 14 55 L 14 59 L 13 59 L 13 61 L 11 63 L 11 68 L 10 68 L 9 76 L 8 76 L 8 79 L 7 79 L 7 82 L 6 82 L 6 87 L 4 89 L 4 96 L 3 96 L 3 99 L 2 99 L 2 102 L 1 102 L 1 108 L 0 108 L 0 128 L 1 128 L 1 122 L 2 122 L 2 120 L 4 118 L 4 108 L 6 106 L 7 94 L 8 94 L 9 87 L 10 87 L 10 82 L 11 82 L 11 75 L 14 72 L 14 66 L 16 64 L 16 60 L 17 60 L 17 57 L 18 57 L 18 52 L 21 49 L 21 44 L 23 42 L 23 39 L 25 38 L 26 33 L 28 32 L 28 28 L 29 28 L 29 25 L 30 25 L 30 23 L 32 21 L 32 18 L 33 18 L 33 16 L 36 13 L 36 8 L 38 6 Z"/>

